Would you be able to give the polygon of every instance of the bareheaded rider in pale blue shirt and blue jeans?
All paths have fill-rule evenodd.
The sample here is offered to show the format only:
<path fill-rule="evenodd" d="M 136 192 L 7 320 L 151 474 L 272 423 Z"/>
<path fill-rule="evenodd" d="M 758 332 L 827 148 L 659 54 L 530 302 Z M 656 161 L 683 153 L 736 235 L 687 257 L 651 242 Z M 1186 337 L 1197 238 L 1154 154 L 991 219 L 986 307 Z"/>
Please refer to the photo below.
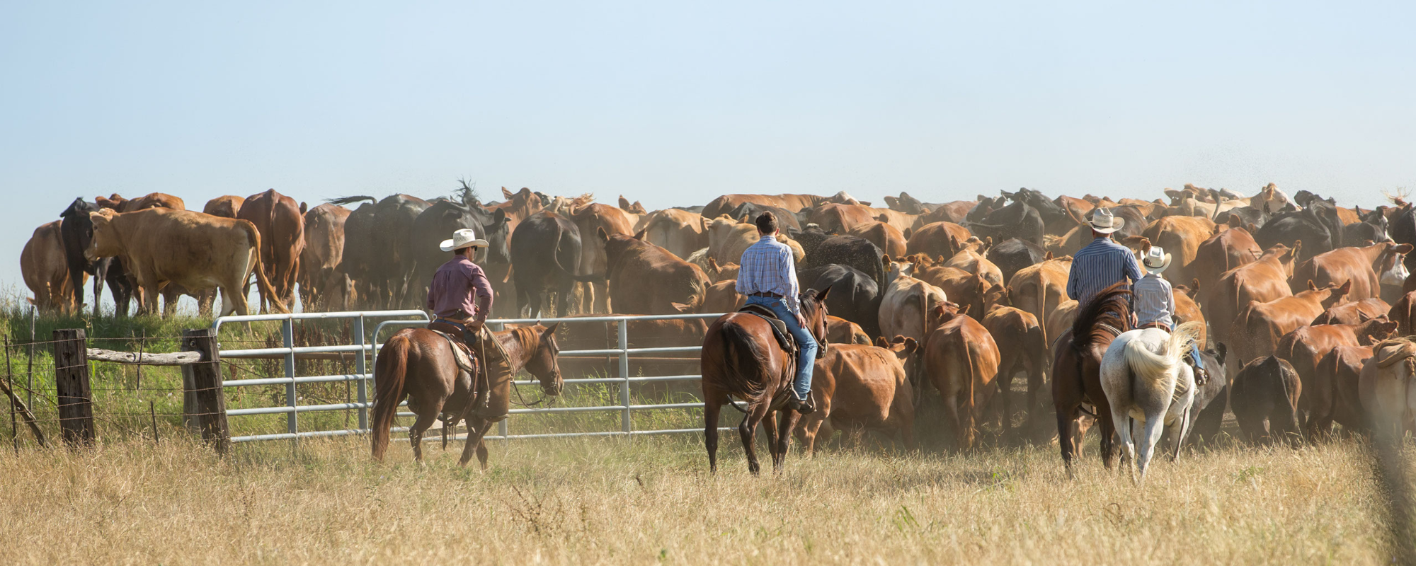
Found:
<path fill-rule="evenodd" d="M 796 280 L 796 260 L 792 248 L 777 242 L 777 216 L 763 212 L 758 216 L 758 243 L 742 252 L 738 262 L 738 293 L 748 296 L 748 304 L 760 304 L 777 313 L 797 342 L 797 375 L 793 382 L 790 408 L 809 415 L 811 406 L 811 369 L 816 366 L 816 338 L 806 330 L 801 317 L 800 287 Z"/>

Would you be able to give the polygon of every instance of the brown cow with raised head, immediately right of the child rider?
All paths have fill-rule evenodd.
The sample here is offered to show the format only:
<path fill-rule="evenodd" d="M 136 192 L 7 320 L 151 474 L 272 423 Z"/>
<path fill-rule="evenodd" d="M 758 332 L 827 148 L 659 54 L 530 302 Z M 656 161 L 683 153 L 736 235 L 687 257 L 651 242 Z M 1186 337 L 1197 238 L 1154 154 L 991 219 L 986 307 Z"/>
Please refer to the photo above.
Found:
<path fill-rule="evenodd" d="M 1229 342 L 1231 323 L 1249 301 L 1267 303 L 1293 296 L 1289 276 L 1293 275 L 1293 265 L 1301 249 L 1303 242 L 1294 243 L 1294 248 L 1280 243 L 1264 250 L 1259 260 L 1219 276 L 1215 286 L 1206 291 L 1208 299 L 1201 303 L 1214 331 L 1214 341 Z M 1235 359 L 1235 364 L 1229 364 L 1231 374 L 1236 374 L 1239 371 L 1236 357 L 1231 355 L 1229 359 Z"/>

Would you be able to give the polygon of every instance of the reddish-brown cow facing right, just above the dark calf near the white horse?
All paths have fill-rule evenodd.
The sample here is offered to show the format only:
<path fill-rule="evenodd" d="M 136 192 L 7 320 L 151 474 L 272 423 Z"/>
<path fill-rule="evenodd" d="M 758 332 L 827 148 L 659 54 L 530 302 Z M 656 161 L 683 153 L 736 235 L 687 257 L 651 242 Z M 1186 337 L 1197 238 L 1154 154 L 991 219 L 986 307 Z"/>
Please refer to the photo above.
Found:
<path fill-rule="evenodd" d="M 1308 282 L 1308 290 L 1291 297 L 1280 297 L 1267 303 L 1249 301 L 1231 324 L 1229 341 L 1235 355 L 1253 359 L 1274 355 L 1279 340 L 1300 327 L 1313 324 L 1328 307 L 1347 297 L 1352 283 L 1317 287 Z"/>

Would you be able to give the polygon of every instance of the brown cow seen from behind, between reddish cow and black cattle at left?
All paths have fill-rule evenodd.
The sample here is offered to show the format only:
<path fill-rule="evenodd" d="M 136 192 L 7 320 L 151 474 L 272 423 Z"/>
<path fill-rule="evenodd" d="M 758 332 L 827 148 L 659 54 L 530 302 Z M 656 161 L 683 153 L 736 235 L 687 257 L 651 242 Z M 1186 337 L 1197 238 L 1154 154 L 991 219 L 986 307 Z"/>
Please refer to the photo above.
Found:
<path fill-rule="evenodd" d="M 344 275 L 344 221 L 350 209 L 321 204 L 304 212 L 304 249 L 300 250 L 300 303 L 306 310 L 350 307 Z"/>

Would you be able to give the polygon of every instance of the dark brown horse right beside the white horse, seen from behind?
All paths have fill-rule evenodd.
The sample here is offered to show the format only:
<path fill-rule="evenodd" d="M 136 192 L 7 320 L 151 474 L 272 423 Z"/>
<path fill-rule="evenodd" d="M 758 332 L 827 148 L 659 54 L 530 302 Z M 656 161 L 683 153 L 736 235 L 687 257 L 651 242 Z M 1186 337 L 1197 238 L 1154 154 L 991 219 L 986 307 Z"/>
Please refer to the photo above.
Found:
<path fill-rule="evenodd" d="M 1058 446 L 1062 447 L 1068 475 L 1072 474 L 1072 458 L 1080 451 L 1086 434 L 1082 403 L 1096 408 L 1102 463 L 1107 470 L 1114 458 L 1116 424 L 1112 422 L 1106 392 L 1102 391 L 1102 357 L 1117 335 L 1131 330 L 1131 291 L 1121 286 L 1117 283 L 1099 293 L 1076 314 L 1072 330 L 1058 337 L 1056 358 L 1052 359 L 1052 403 L 1058 413 Z"/>

